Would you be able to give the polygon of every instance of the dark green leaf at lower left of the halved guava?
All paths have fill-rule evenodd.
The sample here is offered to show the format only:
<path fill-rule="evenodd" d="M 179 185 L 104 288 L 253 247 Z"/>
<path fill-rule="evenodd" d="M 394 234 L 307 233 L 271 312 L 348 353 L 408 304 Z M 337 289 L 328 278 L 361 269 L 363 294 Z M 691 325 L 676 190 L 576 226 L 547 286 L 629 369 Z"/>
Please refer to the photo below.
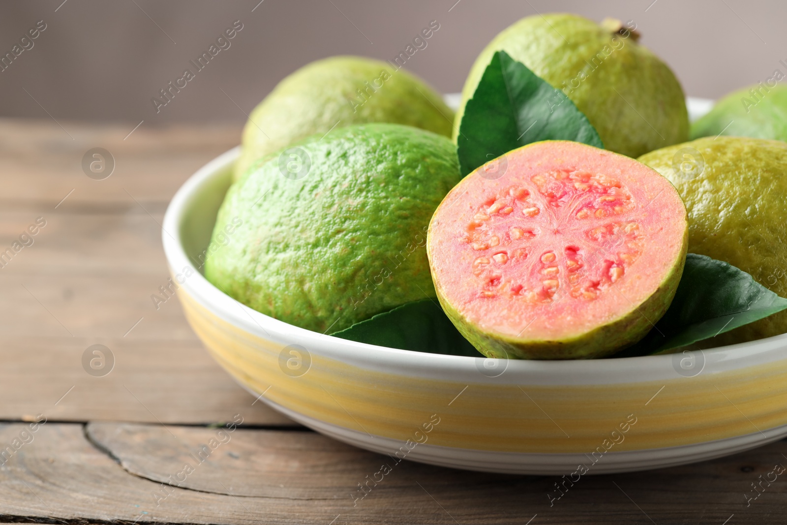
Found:
<path fill-rule="evenodd" d="M 432 299 L 408 302 L 331 335 L 416 352 L 483 357 Z"/>

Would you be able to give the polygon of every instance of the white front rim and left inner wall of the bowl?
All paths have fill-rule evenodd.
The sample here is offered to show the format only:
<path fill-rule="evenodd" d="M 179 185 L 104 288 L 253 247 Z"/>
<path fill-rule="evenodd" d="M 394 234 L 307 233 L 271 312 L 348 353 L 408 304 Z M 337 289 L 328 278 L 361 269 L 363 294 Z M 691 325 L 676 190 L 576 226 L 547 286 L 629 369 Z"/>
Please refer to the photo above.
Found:
<path fill-rule="evenodd" d="M 295 341 L 347 363 L 389 370 L 397 368 L 406 375 L 498 382 L 505 377 L 506 382 L 527 379 L 537 383 L 629 383 L 676 375 L 674 358 L 679 360 L 679 354 L 603 360 L 521 360 L 506 364 L 507 373 L 500 378 L 479 378 L 478 361 L 482 361 L 482 357 L 420 353 L 334 338 L 285 324 L 241 305 L 201 275 L 216 214 L 231 186 L 232 168 L 239 151 L 238 146 L 216 157 L 183 184 L 167 209 L 162 233 L 164 252 L 173 275 L 183 271 L 185 266 L 198 270 L 197 275 L 183 283 L 184 291 L 228 323 L 282 342 L 283 346 Z M 701 353 L 703 359 L 708 360 L 706 369 L 711 368 L 712 362 L 714 372 L 721 372 L 782 359 L 785 342 L 787 335 L 781 335 L 711 351 L 706 349 Z"/>

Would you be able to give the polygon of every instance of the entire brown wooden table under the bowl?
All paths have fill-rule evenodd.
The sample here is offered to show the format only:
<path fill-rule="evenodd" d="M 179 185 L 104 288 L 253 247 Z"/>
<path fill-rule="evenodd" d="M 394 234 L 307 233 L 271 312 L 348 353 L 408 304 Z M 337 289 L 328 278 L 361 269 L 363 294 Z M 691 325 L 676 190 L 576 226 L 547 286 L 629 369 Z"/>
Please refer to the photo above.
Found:
<path fill-rule="evenodd" d="M 168 278 L 160 224 L 169 199 L 238 142 L 238 126 L 142 125 L 127 136 L 131 125 L 61 124 L 0 120 L 0 251 L 46 221 L 0 268 L 0 522 L 787 522 L 787 481 L 761 482 L 787 464 L 785 442 L 589 476 L 552 506 L 555 477 L 405 461 L 353 502 L 389 458 L 255 402 L 202 349 L 175 299 L 156 309 L 150 298 Z M 96 146 L 116 162 L 104 180 L 81 168 Z M 113 353 L 108 375 L 83 368 L 94 344 Z M 46 423 L 32 432 L 39 414 Z M 224 442 L 170 485 L 217 436 Z"/>

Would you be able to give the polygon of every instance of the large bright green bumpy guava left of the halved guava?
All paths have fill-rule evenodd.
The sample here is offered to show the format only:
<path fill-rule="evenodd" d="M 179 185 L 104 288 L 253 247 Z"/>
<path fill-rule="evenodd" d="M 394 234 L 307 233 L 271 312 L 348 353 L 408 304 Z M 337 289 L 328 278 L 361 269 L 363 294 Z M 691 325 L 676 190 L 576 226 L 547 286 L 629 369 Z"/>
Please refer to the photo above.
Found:
<path fill-rule="evenodd" d="M 311 159 L 302 179 L 286 178 L 273 158 L 230 187 L 212 242 L 226 224 L 241 224 L 209 250 L 205 277 L 259 312 L 321 333 L 436 297 L 427 227 L 460 180 L 456 146 L 399 124 L 321 137 L 298 146 Z"/>

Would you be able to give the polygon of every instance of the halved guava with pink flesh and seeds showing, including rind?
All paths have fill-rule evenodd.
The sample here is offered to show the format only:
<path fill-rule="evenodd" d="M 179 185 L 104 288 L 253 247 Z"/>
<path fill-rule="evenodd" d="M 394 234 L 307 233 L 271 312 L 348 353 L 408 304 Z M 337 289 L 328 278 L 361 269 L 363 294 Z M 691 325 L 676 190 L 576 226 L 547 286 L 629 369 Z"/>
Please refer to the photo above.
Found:
<path fill-rule="evenodd" d="M 667 311 L 688 236 L 651 168 L 578 142 L 534 142 L 463 179 L 427 237 L 440 303 L 488 357 L 603 357 Z"/>

